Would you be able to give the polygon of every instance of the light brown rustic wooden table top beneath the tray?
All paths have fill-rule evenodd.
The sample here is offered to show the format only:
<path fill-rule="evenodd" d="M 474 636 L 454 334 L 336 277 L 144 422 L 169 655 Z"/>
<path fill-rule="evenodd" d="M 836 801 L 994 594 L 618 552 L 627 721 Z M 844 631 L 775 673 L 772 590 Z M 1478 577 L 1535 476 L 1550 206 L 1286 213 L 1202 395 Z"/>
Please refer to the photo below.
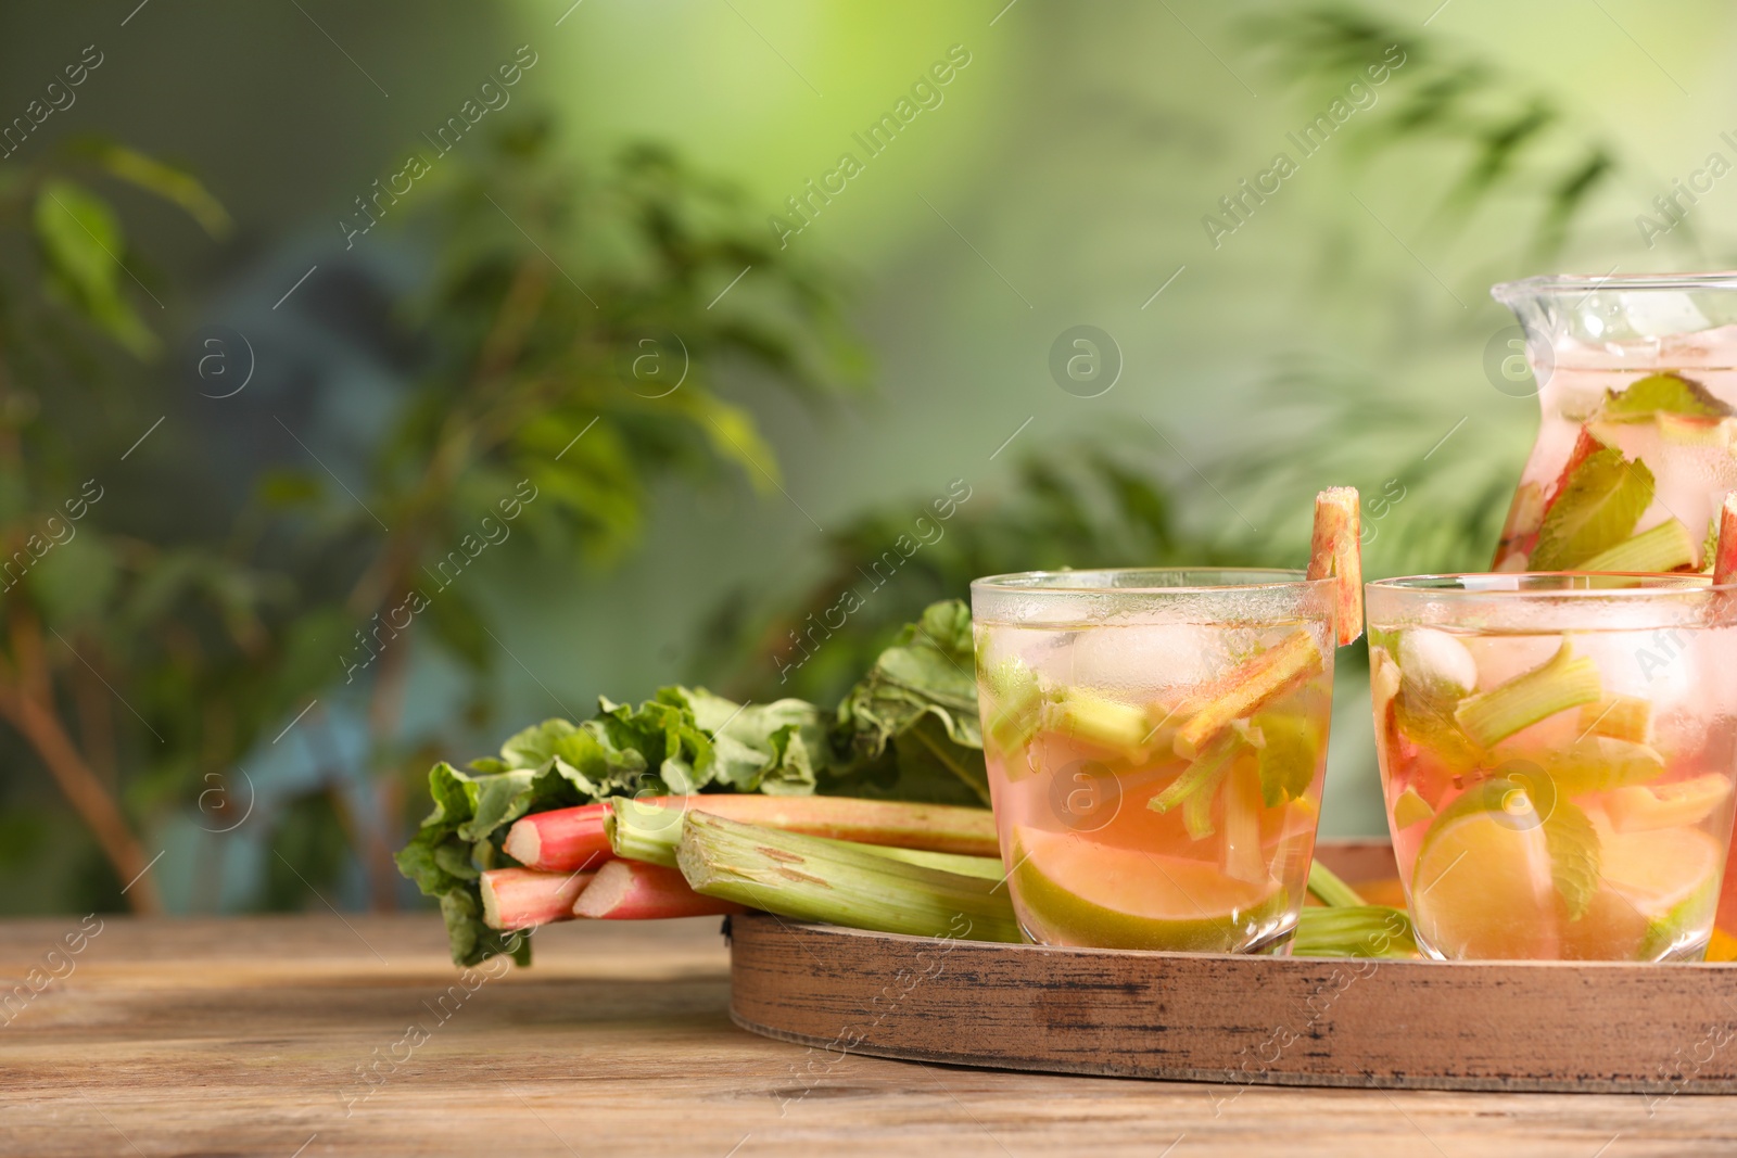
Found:
<path fill-rule="evenodd" d="M 1737 1097 L 1237 1094 L 816 1057 L 730 1023 L 710 918 L 558 925 L 533 969 L 469 983 L 434 915 L 94 927 L 68 953 L 78 920 L 0 925 L 26 995 L 0 993 L 0 1153 L 1737 1153 Z"/>

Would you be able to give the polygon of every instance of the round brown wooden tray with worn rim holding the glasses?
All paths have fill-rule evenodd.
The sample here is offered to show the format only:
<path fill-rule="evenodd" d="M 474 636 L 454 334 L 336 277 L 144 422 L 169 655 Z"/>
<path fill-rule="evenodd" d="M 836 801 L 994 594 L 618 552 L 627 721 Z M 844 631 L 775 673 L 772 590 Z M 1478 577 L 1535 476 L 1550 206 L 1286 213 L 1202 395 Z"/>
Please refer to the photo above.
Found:
<path fill-rule="evenodd" d="M 1351 882 L 1384 842 L 1324 844 Z M 990 944 L 731 918 L 730 1016 L 848 1052 L 1244 1085 L 1737 1092 L 1737 964 L 1443 964 Z M 1226 1094 L 1230 1095 L 1230 1094 Z"/>

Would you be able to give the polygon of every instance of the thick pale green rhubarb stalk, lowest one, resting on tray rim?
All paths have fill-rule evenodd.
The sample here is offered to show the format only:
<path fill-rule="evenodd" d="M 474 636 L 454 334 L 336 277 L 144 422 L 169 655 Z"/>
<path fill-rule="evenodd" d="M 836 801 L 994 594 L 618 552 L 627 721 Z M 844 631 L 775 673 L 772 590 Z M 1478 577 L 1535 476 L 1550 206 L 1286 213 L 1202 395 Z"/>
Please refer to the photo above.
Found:
<path fill-rule="evenodd" d="M 895 861 L 841 840 L 688 813 L 676 861 L 695 892 L 792 920 L 919 938 L 1023 939 L 999 880 Z"/>

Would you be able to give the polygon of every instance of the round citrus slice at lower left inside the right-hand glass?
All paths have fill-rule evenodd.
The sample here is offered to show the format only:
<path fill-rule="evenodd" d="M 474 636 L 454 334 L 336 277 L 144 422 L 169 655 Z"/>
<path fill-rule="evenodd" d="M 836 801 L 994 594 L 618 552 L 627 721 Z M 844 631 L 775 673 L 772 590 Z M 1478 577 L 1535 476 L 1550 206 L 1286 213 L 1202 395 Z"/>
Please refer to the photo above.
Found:
<path fill-rule="evenodd" d="M 1435 818 L 1412 866 L 1410 910 L 1419 939 L 1449 958 L 1555 957 L 1549 845 L 1523 788 L 1485 781 Z"/>

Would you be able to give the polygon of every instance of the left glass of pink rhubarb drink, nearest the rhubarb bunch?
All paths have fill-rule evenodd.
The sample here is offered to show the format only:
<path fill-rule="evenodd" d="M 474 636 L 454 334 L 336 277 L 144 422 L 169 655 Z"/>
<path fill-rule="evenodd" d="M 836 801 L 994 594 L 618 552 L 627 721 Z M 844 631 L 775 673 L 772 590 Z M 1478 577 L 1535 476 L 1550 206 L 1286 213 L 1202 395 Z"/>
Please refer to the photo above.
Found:
<path fill-rule="evenodd" d="M 971 613 L 995 825 L 1025 934 L 1287 946 L 1327 757 L 1336 582 L 1035 571 L 974 582 Z"/>

